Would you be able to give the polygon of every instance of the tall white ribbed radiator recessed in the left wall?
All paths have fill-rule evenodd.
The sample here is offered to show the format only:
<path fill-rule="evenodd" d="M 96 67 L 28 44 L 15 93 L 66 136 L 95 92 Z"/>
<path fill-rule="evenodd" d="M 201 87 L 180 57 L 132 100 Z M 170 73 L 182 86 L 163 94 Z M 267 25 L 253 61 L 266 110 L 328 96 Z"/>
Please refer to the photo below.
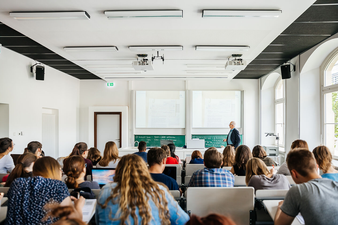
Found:
<path fill-rule="evenodd" d="M 42 150 L 55 158 L 55 115 L 42 114 Z"/>

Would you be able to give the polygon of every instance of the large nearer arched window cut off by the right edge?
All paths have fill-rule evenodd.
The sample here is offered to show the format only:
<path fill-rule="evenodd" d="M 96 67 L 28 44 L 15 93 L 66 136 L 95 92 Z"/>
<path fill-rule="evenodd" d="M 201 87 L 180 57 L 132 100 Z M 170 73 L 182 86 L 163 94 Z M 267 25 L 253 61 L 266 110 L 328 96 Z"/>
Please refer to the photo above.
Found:
<path fill-rule="evenodd" d="M 338 156 L 338 51 L 322 65 L 322 140 Z"/>

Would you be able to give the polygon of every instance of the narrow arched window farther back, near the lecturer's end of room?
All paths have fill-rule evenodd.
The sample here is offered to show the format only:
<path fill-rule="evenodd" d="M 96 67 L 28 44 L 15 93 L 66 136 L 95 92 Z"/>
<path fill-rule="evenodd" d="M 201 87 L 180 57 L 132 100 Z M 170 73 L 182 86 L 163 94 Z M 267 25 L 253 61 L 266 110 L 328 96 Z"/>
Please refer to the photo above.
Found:
<path fill-rule="evenodd" d="M 285 85 L 280 77 L 274 86 L 274 133 L 279 135 L 279 145 L 284 147 L 285 137 Z M 277 140 L 275 141 L 277 144 Z"/>

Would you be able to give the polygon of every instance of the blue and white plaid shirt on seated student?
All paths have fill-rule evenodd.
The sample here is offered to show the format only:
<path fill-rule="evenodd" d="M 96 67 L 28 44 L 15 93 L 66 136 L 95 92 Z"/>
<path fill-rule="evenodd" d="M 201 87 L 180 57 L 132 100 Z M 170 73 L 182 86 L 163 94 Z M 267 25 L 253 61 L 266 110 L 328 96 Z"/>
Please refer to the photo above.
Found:
<path fill-rule="evenodd" d="M 189 182 L 188 187 L 233 187 L 234 175 L 225 169 L 196 170 Z"/>

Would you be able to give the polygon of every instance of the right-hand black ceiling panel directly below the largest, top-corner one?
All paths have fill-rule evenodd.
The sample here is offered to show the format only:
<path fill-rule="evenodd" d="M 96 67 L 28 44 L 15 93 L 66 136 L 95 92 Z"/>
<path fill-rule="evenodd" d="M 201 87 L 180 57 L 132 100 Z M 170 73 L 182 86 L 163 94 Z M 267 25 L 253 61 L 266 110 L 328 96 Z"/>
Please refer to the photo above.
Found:
<path fill-rule="evenodd" d="M 292 23 L 281 34 L 288 35 L 332 35 L 338 23 Z"/>

